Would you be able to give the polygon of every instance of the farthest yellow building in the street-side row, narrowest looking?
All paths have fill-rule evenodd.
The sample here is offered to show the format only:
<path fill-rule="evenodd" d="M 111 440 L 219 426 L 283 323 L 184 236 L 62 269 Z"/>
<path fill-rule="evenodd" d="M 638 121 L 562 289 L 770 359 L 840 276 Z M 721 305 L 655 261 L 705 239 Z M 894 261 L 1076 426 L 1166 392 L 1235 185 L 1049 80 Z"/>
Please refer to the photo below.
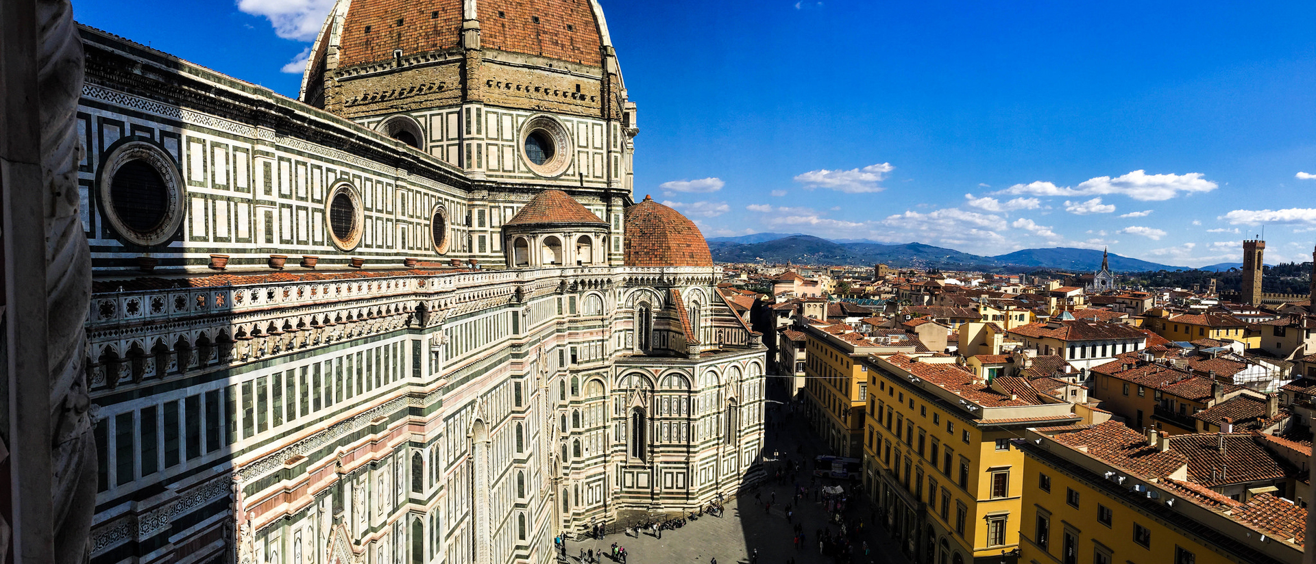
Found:
<path fill-rule="evenodd" d="M 808 325 L 803 333 L 809 425 L 833 454 L 859 458 L 869 387 L 867 367 L 859 360 L 870 354 L 913 352 L 919 344 L 876 342 L 845 323 Z"/>

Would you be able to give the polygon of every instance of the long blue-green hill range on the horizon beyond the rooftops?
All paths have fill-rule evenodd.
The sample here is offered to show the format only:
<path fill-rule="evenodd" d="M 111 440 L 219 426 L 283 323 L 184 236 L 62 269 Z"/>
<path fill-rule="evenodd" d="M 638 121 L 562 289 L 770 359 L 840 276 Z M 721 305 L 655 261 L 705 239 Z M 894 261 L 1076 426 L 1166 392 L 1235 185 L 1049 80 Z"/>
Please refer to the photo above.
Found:
<path fill-rule="evenodd" d="M 745 241 L 738 241 L 745 239 Z M 762 241 L 755 241 L 762 239 Z M 854 241 L 854 239 L 849 239 Z M 1025 248 L 999 256 L 980 256 L 923 243 L 886 245 L 837 242 L 813 235 L 758 233 L 708 239 L 713 260 L 722 263 L 876 264 L 920 268 L 974 268 L 984 271 L 1054 268 L 1091 272 L 1101 266 L 1101 251 L 1091 248 Z M 1183 270 L 1112 254 L 1117 272 Z"/>

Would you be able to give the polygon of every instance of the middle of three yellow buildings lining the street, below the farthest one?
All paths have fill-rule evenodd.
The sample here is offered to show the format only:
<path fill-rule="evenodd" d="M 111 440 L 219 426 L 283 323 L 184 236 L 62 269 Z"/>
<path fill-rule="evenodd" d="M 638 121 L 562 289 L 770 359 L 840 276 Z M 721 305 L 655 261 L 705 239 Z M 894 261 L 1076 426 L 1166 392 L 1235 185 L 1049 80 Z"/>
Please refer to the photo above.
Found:
<path fill-rule="evenodd" d="M 869 367 L 865 488 L 917 561 L 994 559 L 1019 546 L 1026 484 L 1009 439 L 1073 425 L 1073 406 L 1025 379 L 988 384 L 946 356 L 890 355 Z M 984 560 L 987 561 L 987 560 Z"/>

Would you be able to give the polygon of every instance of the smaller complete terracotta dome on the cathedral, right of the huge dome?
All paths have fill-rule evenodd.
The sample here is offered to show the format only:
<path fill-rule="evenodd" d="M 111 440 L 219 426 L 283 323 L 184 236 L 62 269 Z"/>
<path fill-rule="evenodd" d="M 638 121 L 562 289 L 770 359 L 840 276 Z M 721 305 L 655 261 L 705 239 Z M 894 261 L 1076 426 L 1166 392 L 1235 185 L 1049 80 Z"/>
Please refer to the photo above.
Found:
<path fill-rule="evenodd" d="M 626 208 L 626 266 L 711 267 L 713 256 L 694 221 L 645 196 Z"/>

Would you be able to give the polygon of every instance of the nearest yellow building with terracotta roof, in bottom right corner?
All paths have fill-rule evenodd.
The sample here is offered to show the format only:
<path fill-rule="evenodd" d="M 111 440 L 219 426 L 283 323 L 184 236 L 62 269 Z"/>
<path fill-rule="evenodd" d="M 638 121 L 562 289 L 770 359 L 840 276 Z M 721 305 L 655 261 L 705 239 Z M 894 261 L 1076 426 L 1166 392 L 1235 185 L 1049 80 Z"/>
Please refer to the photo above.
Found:
<path fill-rule="evenodd" d="M 1020 563 L 1296 564 L 1307 510 L 1282 498 L 1282 488 L 1255 486 L 1274 484 L 1277 476 L 1292 484 L 1278 468 L 1279 456 L 1262 444 L 1267 440 L 1248 434 L 1145 436 L 1117 422 L 1028 430 L 1017 442 L 1029 492 Z M 1244 484 L 1233 497 L 1230 486 L 1212 482 L 1208 468 L 1227 460 L 1229 450 L 1245 451 L 1232 456 L 1261 467 L 1236 469 Z"/>

